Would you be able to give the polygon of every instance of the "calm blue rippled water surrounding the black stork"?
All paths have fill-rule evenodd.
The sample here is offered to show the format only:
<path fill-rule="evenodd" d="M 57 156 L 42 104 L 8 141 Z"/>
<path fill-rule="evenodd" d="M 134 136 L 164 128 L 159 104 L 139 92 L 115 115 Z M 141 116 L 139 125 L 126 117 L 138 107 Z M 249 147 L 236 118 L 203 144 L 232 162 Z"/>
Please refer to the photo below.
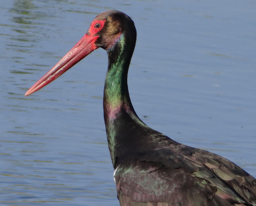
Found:
<path fill-rule="evenodd" d="M 24 97 L 102 11 L 135 22 L 128 76 L 150 127 L 256 177 L 256 2 L 10 0 L 0 5 L 0 204 L 119 205 L 102 49 Z"/>

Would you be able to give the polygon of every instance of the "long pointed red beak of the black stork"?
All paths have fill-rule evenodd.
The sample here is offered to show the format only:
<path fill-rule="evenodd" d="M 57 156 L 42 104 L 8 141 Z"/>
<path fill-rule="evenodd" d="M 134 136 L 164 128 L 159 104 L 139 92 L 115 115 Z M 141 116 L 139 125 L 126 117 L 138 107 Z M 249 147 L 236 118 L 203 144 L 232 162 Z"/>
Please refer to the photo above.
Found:
<path fill-rule="evenodd" d="M 54 79 L 60 77 L 65 71 L 74 66 L 77 62 L 90 54 L 98 47 L 95 46 L 95 41 L 99 36 L 89 36 L 85 34 L 76 45 L 54 66 L 48 71 L 36 84 L 34 84 L 25 94 L 28 96 L 37 90 L 41 89 L 45 85 L 48 85 Z"/>

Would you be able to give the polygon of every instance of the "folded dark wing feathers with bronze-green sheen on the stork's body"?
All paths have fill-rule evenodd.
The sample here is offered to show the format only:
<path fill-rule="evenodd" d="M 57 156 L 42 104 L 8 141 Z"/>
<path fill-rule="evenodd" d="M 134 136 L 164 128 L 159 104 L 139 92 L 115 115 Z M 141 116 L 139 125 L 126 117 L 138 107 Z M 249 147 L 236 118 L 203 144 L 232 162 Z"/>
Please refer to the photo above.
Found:
<path fill-rule="evenodd" d="M 186 147 L 144 152 L 119 163 L 120 205 L 256 206 L 251 175 L 216 154 L 195 148 L 185 152 Z"/>

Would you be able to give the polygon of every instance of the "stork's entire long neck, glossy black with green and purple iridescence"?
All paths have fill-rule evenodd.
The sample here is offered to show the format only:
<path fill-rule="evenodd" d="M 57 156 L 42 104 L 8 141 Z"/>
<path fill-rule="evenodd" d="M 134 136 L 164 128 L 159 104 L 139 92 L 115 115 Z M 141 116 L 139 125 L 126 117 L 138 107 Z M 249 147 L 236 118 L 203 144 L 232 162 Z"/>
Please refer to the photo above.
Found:
<path fill-rule="evenodd" d="M 128 92 L 127 74 L 133 50 L 134 47 L 125 44 L 123 35 L 115 47 L 108 50 L 103 108 L 108 147 L 114 167 L 116 157 L 122 150 L 122 144 L 130 138 L 124 130 L 129 131 L 127 127 L 132 125 L 147 127 L 135 113 Z"/>

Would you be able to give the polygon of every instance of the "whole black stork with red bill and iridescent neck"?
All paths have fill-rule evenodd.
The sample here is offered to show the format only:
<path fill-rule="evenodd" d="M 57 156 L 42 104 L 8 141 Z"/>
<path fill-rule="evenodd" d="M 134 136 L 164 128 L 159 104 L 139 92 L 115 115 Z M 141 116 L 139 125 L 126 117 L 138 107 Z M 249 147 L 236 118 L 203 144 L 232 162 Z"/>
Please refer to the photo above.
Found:
<path fill-rule="evenodd" d="M 256 180 L 242 168 L 214 153 L 177 143 L 140 120 L 127 86 L 135 42 L 130 17 L 120 11 L 103 12 L 25 96 L 101 47 L 108 53 L 104 120 L 120 205 L 256 205 Z"/>

